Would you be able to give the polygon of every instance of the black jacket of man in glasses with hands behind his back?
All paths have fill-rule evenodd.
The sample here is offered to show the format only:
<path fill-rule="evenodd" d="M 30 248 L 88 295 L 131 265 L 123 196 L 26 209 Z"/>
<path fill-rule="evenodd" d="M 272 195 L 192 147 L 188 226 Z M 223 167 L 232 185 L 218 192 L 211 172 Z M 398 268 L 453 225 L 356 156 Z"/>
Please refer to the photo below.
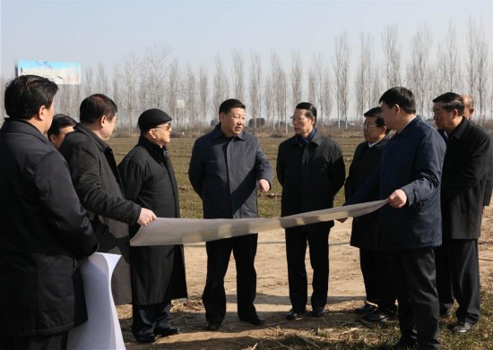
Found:
<path fill-rule="evenodd" d="M 281 142 L 277 154 L 277 179 L 282 186 L 281 216 L 333 208 L 342 188 L 346 168 L 341 147 L 316 132 L 304 149 L 296 136 Z M 330 229 L 333 221 L 303 226 L 303 231 Z M 297 231 L 298 228 L 292 228 Z"/>

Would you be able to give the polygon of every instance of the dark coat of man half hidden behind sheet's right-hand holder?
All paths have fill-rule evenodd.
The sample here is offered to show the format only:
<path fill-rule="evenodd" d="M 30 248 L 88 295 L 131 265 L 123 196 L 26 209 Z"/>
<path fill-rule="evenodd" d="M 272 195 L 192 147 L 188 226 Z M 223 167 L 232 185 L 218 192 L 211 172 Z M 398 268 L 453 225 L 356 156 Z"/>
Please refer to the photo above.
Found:
<path fill-rule="evenodd" d="M 354 151 L 354 157 L 350 164 L 350 171 L 344 183 L 344 195 L 346 201 L 350 199 L 359 187 L 364 184 L 376 167 L 380 164 L 382 149 L 387 143 L 385 137 L 372 147 L 368 142 L 361 142 Z M 377 198 L 375 198 L 375 201 Z M 353 218 L 350 236 L 350 245 L 362 249 L 378 248 L 378 212 Z"/>

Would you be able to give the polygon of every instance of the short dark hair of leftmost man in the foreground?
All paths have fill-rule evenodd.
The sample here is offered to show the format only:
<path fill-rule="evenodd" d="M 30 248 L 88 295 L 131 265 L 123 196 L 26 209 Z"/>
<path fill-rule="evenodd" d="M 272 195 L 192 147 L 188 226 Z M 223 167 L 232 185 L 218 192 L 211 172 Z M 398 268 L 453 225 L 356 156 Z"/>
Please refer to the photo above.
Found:
<path fill-rule="evenodd" d="M 30 119 L 41 106 L 50 108 L 58 86 L 38 75 L 21 75 L 7 83 L 4 92 L 5 112 L 11 118 Z"/>

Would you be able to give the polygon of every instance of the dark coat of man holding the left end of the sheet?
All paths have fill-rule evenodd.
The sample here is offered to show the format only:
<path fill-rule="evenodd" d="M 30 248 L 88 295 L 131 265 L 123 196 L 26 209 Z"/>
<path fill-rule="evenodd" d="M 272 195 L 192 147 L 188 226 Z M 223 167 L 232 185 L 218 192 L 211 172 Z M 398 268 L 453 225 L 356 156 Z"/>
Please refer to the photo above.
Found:
<path fill-rule="evenodd" d="M 121 254 L 111 279 L 117 305 L 131 303 L 128 224 L 134 224 L 141 206 L 126 201 L 113 150 L 82 124 L 62 142 L 75 191 L 89 212 L 99 241 L 99 252 Z"/>

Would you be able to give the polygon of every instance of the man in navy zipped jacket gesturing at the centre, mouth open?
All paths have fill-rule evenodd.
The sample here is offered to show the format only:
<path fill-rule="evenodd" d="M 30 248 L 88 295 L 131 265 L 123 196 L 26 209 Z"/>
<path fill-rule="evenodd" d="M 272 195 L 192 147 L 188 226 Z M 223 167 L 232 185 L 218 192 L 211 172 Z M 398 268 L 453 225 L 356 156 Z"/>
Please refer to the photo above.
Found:
<path fill-rule="evenodd" d="M 218 124 L 195 141 L 188 169 L 190 183 L 203 201 L 203 218 L 257 218 L 257 186 L 267 192 L 272 166 L 256 137 L 244 132 L 245 105 L 227 99 L 219 107 Z M 231 251 L 237 265 L 238 317 L 263 325 L 255 310 L 255 254 L 258 235 L 207 242 L 207 279 L 203 306 L 207 330 L 217 330 L 226 315 L 224 276 Z"/>

